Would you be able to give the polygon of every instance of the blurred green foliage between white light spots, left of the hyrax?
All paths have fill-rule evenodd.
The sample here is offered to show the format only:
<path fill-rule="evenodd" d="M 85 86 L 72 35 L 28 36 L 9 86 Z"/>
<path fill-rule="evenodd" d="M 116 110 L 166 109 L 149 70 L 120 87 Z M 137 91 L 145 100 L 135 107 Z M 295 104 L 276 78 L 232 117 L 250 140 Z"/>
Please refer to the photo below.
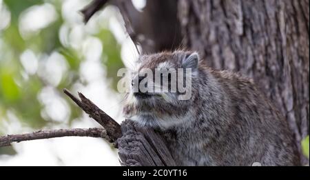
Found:
<path fill-rule="evenodd" d="M 46 115 L 44 112 L 45 104 L 40 101 L 39 94 L 44 88 L 52 86 L 58 93 L 57 95 L 65 99 L 65 96 L 62 94 L 63 88 L 71 89 L 76 84 L 85 84 L 79 74 L 80 64 L 85 61 L 81 48 L 74 48 L 68 46 L 68 44 L 63 44 L 59 38 L 62 26 L 69 26 L 70 30 L 74 28 L 72 27 L 74 26 L 72 22 L 67 22 L 63 18 L 63 14 L 61 14 L 65 1 L 1 1 L 2 6 L 6 6 L 6 9 L 10 12 L 10 24 L 3 29 L 0 26 L 0 134 L 6 133 L 6 130 L 3 130 L 3 124 L 4 121 L 10 121 L 8 112 L 13 113 L 14 117 L 17 117 L 23 125 L 30 128 L 42 128 L 43 126 L 61 123 L 53 121 L 51 117 Z M 45 3 L 52 5 L 56 11 L 56 20 L 25 37 L 20 27 L 23 12 L 27 12 L 27 10 L 34 6 L 42 6 Z M 79 23 L 78 26 L 84 25 Z M 103 66 L 106 67 L 107 77 L 112 79 L 112 86 L 115 88 L 118 80 L 116 78 L 116 71 L 123 67 L 123 63 L 120 54 L 121 46 L 116 41 L 114 34 L 108 28 L 98 26 L 95 32 L 85 32 L 83 37 L 96 37 L 101 40 L 103 44 L 101 61 Z M 27 72 L 25 65 L 21 62 L 21 56 L 26 51 L 33 52 L 35 57 L 37 57 L 38 68 L 34 73 Z M 49 77 L 42 77 L 39 74 L 40 68 L 44 65 L 48 66 L 46 57 L 49 57 L 54 52 L 62 56 L 66 61 L 65 63 L 68 64 L 65 73 L 61 76 L 61 81 L 56 85 L 46 81 Z M 30 59 L 26 59 L 25 63 L 28 63 L 28 60 Z M 68 106 L 70 106 L 68 123 L 70 123 L 77 117 L 81 117 L 81 110 L 70 101 L 68 102 Z M 14 154 L 14 151 L 1 148 L 0 154 Z"/>

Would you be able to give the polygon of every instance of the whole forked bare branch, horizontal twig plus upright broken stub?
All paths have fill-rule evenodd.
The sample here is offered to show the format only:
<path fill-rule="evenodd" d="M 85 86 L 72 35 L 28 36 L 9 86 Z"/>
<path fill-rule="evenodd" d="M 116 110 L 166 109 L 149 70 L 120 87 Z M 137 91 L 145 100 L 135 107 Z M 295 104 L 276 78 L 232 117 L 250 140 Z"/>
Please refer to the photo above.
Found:
<path fill-rule="evenodd" d="M 92 101 L 87 99 L 79 92 L 81 101 L 74 97 L 68 90 L 63 90 L 65 94 L 70 97 L 82 110 L 97 121 L 103 128 L 89 128 L 89 129 L 60 129 L 60 130 L 39 130 L 27 134 L 14 134 L 0 137 L 0 147 L 10 146 L 12 142 L 29 141 L 36 139 L 50 139 L 54 137 L 102 137 L 114 144 L 116 147 L 116 140 L 122 136 L 121 126 L 109 115 L 105 114 L 103 110 L 99 109 Z"/>

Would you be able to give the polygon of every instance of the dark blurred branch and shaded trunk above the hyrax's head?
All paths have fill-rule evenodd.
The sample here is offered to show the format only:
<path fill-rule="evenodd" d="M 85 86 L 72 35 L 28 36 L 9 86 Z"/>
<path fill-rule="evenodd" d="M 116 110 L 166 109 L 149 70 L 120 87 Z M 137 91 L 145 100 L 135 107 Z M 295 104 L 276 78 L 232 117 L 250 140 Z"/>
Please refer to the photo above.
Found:
<path fill-rule="evenodd" d="M 142 12 L 128 0 L 93 0 L 81 10 L 85 23 L 106 3 L 120 10 L 127 33 L 135 46 L 143 47 L 143 52 L 161 52 L 182 47 L 183 36 L 177 16 L 178 0 L 147 1 Z"/>

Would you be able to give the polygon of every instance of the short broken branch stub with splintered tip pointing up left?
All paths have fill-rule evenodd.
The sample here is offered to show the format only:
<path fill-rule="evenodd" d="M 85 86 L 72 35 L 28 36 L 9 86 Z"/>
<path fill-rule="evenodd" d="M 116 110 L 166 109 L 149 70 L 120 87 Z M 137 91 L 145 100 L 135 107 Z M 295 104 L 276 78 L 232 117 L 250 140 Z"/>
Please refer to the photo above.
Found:
<path fill-rule="evenodd" d="M 105 139 L 110 143 L 113 143 L 117 147 L 116 140 L 122 136 L 121 126 L 112 117 L 107 115 L 103 110 L 99 109 L 92 101 L 87 99 L 81 92 L 79 97 L 81 101 L 74 97 L 74 95 L 68 90 L 64 89 L 63 92 L 68 95 L 82 110 L 97 121 L 107 131 Z"/>

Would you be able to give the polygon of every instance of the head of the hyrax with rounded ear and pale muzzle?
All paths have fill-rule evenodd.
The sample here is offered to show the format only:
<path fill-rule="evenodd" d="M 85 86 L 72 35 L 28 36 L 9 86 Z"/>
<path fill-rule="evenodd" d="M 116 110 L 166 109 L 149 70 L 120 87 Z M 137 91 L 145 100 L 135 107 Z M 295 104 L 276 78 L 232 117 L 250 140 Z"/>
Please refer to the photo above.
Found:
<path fill-rule="evenodd" d="M 132 72 L 125 117 L 143 126 L 170 126 L 169 119 L 186 114 L 192 100 L 192 81 L 198 75 L 196 52 L 143 55 Z"/>

